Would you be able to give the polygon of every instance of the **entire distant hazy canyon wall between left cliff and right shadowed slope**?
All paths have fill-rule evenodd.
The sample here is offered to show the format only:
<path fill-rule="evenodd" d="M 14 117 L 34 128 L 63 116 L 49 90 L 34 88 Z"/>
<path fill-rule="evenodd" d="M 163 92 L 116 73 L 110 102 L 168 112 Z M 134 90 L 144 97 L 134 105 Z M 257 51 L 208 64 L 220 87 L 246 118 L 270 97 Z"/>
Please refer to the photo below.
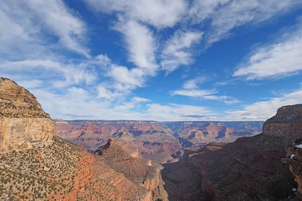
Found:
<path fill-rule="evenodd" d="M 261 132 L 263 122 L 157 122 L 55 119 L 56 135 L 94 152 L 109 138 L 126 142 L 157 164 L 175 162 L 183 148 L 212 142 L 234 142 Z M 233 128 L 235 127 L 235 128 Z"/>

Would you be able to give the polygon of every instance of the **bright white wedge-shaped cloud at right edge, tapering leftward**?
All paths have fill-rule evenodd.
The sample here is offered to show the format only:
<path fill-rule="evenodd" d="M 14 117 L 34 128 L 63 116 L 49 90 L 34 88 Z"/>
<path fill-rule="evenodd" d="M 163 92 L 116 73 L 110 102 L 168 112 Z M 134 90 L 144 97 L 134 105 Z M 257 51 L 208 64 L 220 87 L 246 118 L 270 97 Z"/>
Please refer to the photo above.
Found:
<path fill-rule="evenodd" d="M 233 76 L 243 76 L 248 80 L 280 78 L 302 70 L 300 25 L 296 31 L 285 33 L 274 43 L 256 49 Z"/>

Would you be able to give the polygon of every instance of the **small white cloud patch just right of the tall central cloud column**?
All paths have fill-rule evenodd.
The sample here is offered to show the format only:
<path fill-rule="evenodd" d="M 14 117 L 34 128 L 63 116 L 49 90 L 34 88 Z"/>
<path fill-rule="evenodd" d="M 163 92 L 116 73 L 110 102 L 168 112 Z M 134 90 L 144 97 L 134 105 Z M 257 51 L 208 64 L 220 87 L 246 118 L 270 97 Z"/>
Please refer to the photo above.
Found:
<path fill-rule="evenodd" d="M 162 68 L 168 73 L 180 65 L 189 65 L 193 62 L 193 53 L 190 48 L 198 44 L 203 32 L 176 31 L 165 44 L 162 52 Z"/>

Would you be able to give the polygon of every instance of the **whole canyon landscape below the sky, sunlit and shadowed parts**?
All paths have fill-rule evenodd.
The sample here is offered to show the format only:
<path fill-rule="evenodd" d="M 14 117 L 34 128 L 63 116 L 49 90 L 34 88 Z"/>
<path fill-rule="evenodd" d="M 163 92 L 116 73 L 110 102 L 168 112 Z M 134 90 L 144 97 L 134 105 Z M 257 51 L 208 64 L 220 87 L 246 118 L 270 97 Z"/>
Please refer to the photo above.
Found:
<path fill-rule="evenodd" d="M 52 120 L 0 78 L 0 113 L 1 200 L 302 197 L 302 105 L 266 122 Z"/>

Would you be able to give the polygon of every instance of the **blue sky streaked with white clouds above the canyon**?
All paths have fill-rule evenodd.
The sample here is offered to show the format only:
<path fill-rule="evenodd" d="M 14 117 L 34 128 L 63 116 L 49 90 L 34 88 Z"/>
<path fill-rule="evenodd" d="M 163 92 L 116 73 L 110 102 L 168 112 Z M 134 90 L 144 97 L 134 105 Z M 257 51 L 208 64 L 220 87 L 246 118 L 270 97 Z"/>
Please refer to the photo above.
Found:
<path fill-rule="evenodd" d="M 0 76 L 51 118 L 265 121 L 302 104 L 302 0 L 0 1 Z"/>

